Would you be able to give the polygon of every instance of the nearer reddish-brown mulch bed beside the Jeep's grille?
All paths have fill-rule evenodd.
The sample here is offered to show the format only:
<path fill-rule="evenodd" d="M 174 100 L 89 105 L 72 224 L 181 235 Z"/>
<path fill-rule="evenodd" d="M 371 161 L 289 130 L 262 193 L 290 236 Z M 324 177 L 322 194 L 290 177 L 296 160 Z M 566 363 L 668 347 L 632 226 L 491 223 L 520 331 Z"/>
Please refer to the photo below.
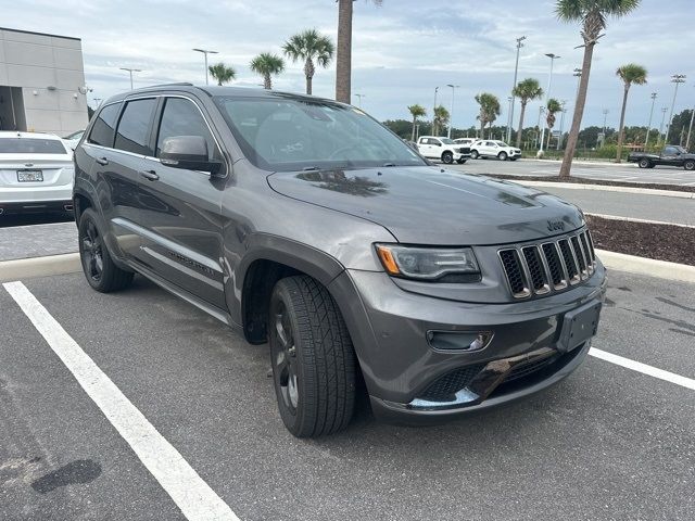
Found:
<path fill-rule="evenodd" d="M 695 228 L 586 216 L 594 246 L 695 266 Z"/>

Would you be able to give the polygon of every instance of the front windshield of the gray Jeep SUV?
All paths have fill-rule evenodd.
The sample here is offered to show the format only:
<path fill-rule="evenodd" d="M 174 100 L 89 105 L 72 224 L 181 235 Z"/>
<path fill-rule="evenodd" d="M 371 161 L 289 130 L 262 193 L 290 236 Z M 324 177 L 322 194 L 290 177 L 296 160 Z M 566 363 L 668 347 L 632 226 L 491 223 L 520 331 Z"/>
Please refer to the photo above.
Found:
<path fill-rule="evenodd" d="M 426 165 L 397 136 L 349 105 L 289 97 L 216 97 L 215 103 L 244 155 L 263 169 Z"/>

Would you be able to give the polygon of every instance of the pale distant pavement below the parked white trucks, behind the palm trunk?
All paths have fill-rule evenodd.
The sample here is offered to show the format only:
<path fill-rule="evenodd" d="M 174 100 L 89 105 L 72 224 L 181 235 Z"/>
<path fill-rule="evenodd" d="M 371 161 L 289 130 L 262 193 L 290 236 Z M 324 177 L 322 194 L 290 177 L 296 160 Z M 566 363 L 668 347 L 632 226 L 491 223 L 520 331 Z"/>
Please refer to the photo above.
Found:
<path fill-rule="evenodd" d="M 506 174 L 510 176 L 557 176 L 560 162 L 554 160 L 468 160 L 463 165 L 453 164 L 448 168 L 471 174 Z M 608 162 L 572 163 L 572 176 L 589 179 L 605 179 L 627 182 L 657 182 L 695 187 L 695 171 L 686 171 L 674 166 L 640 168 L 633 163 L 612 164 Z"/>

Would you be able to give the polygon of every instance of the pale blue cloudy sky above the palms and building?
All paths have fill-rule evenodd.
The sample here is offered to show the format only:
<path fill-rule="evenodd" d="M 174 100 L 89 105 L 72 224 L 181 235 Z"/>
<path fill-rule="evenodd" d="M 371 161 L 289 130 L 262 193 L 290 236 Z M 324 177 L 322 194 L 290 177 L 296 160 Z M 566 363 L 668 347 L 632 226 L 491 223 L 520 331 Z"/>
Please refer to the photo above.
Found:
<path fill-rule="evenodd" d="M 486 91 L 497 96 L 506 125 L 507 98 L 514 82 L 516 38 L 526 36 L 519 58 L 518 78 L 536 78 L 551 93 L 567 100 L 569 127 L 583 49 L 578 24 L 559 22 L 551 0 L 369 0 L 354 4 L 353 104 L 364 94 L 363 109 L 383 119 L 408 119 L 407 105 L 419 103 L 431 117 L 434 89 L 438 104 L 451 110 L 455 90 L 453 125 L 477 125 L 473 97 Z M 0 0 L 0 25 L 24 30 L 73 36 L 83 40 L 85 76 L 92 106 L 129 89 L 128 73 L 142 69 L 135 86 L 191 81 L 204 84 L 203 55 L 192 48 L 216 50 L 211 61 L 223 61 L 237 71 L 231 84 L 260 88 L 262 78 L 249 68 L 261 52 L 280 53 L 282 43 L 305 28 L 316 28 L 333 41 L 338 9 L 333 0 Z M 589 96 L 582 126 L 617 127 L 622 84 L 616 69 L 630 62 L 648 71 L 648 84 L 630 90 L 627 125 L 646 125 L 657 92 L 653 127 L 661 107 L 670 110 L 673 74 L 687 75 L 679 87 L 674 113 L 695 105 L 695 0 L 642 0 L 627 17 L 608 20 L 605 37 L 594 51 Z M 304 91 L 301 63 L 288 62 L 274 88 Z M 314 94 L 334 97 L 334 64 L 318 68 Z M 525 126 L 539 117 L 539 102 L 529 104 Z M 519 105 L 515 109 L 518 125 Z M 668 113 L 667 113 L 668 116 Z"/>

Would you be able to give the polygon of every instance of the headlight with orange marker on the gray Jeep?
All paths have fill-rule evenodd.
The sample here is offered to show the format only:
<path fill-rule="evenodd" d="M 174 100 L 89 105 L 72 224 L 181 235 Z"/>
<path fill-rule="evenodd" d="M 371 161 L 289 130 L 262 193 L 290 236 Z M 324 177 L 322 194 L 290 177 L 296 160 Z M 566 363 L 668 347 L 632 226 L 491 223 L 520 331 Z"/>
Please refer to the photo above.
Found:
<path fill-rule="evenodd" d="M 479 274 L 470 247 L 415 247 L 376 244 L 389 275 L 408 279 L 437 280 L 450 274 Z"/>

